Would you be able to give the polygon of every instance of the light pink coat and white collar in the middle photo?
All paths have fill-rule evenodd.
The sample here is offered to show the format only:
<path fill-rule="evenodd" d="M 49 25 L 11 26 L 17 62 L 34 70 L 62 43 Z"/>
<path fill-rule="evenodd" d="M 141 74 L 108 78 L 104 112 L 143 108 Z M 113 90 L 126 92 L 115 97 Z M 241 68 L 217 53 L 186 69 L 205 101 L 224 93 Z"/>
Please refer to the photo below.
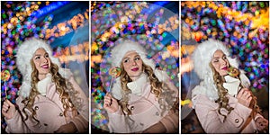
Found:
<path fill-rule="evenodd" d="M 169 89 L 178 95 L 178 90 L 175 85 L 166 81 Z M 135 85 L 134 85 L 135 84 Z M 132 86 L 133 85 L 133 86 Z M 172 111 L 164 112 L 161 116 L 161 109 L 157 102 L 155 94 L 150 93 L 150 84 L 148 80 L 140 77 L 135 82 L 129 83 L 132 93 L 128 108 L 131 111 L 130 119 L 128 119 L 121 108 L 117 112 L 108 113 L 109 115 L 109 130 L 114 133 L 141 133 L 148 129 L 151 125 L 161 121 L 166 127 L 167 133 L 178 131 L 179 116 Z M 175 100 L 175 99 L 172 99 Z"/>

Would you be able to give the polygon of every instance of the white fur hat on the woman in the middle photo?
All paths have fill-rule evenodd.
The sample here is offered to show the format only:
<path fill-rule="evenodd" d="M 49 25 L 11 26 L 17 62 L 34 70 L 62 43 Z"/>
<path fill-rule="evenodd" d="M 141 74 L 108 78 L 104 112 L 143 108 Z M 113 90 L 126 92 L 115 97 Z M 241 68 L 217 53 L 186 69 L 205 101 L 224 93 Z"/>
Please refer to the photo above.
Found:
<path fill-rule="evenodd" d="M 131 40 L 124 40 L 112 49 L 112 67 L 120 67 L 122 58 L 127 52 L 130 51 L 136 51 L 146 65 L 155 69 L 156 64 L 152 59 L 147 58 L 146 50 L 141 45 L 139 45 L 139 43 Z"/>

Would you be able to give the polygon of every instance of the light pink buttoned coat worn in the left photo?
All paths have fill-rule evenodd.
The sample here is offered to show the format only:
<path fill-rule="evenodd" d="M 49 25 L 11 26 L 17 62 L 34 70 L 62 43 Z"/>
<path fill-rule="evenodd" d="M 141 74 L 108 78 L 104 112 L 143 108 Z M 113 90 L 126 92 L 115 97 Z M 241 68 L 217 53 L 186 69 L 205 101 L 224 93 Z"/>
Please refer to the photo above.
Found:
<path fill-rule="evenodd" d="M 73 122 L 76 125 L 78 132 L 85 132 L 88 130 L 89 125 L 89 101 L 85 96 L 83 90 L 73 76 L 69 78 L 70 83 L 74 89 L 78 92 L 78 97 L 82 99 L 83 107 L 81 111 L 72 112 L 68 111 L 65 117 L 64 109 L 61 101 L 59 100 L 59 94 L 56 92 L 56 85 L 50 82 L 46 87 L 46 96 L 39 94 L 35 98 L 33 109 L 37 112 L 37 119 L 40 121 L 40 126 L 36 125 L 36 121 L 31 121 L 30 118 L 27 121 L 23 121 L 21 114 L 24 104 L 21 103 L 23 98 L 19 96 L 16 99 L 16 103 L 19 106 L 20 111 L 16 111 L 13 119 L 6 120 L 8 133 L 53 133 L 61 125 Z M 20 113 L 21 114 L 20 114 Z M 26 112 L 29 112 L 26 110 Z"/>

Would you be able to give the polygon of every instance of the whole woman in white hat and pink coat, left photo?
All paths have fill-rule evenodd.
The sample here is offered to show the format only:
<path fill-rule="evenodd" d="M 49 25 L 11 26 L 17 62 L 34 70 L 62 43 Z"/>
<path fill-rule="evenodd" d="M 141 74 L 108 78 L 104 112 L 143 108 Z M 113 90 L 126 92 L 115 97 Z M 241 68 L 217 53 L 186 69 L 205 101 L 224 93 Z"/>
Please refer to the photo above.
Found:
<path fill-rule="evenodd" d="M 89 133 L 89 101 L 69 69 L 61 68 L 49 45 L 38 39 L 19 46 L 23 74 L 16 105 L 2 106 L 8 133 Z"/>

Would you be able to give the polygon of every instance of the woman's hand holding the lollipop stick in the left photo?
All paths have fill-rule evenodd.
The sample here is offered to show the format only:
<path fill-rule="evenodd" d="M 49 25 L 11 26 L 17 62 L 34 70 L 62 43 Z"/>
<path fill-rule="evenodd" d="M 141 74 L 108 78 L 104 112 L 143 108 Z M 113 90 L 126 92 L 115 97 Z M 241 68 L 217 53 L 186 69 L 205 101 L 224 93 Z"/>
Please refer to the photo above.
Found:
<path fill-rule="evenodd" d="M 2 106 L 2 113 L 6 120 L 14 118 L 16 112 L 16 108 L 14 103 L 11 103 L 8 99 L 6 99 Z"/>

